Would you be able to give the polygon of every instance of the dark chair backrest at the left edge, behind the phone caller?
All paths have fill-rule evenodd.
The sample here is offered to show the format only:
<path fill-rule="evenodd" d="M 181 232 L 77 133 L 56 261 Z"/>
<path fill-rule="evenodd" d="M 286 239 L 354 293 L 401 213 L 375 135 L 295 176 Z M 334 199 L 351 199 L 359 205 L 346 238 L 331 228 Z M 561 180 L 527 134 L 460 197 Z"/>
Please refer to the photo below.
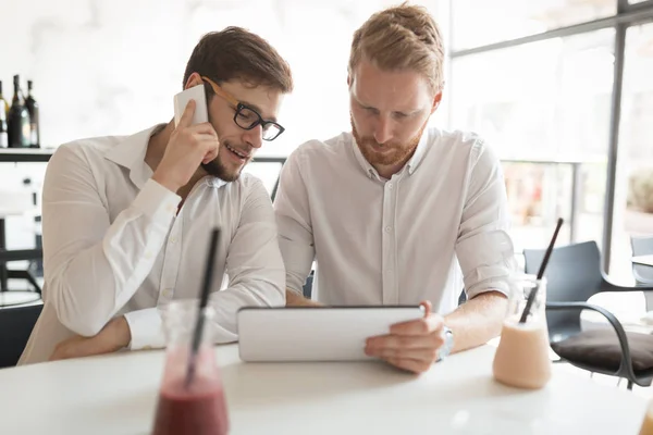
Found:
<path fill-rule="evenodd" d="M 16 365 L 42 307 L 0 308 L 0 368 Z"/>

